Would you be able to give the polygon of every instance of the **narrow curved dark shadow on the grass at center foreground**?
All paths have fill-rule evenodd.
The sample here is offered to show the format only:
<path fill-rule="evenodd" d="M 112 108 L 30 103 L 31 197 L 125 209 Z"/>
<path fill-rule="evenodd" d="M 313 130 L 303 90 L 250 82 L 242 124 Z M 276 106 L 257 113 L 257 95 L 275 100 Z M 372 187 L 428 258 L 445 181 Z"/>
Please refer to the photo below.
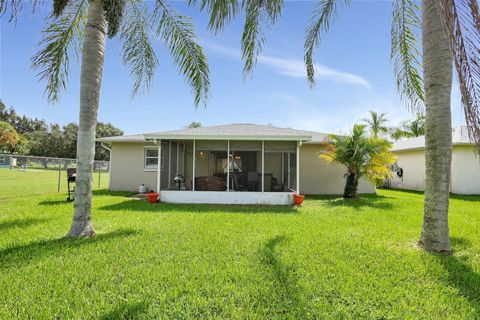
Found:
<path fill-rule="evenodd" d="M 271 302 L 275 303 L 272 309 L 280 313 L 283 318 L 301 319 L 305 314 L 306 306 L 298 289 L 294 267 L 284 264 L 276 252 L 276 248 L 286 240 L 285 236 L 277 235 L 267 241 L 260 250 L 260 261 L 269 269 L 274 280 L 272 286 L 278 301 L 270 297 Z"/>

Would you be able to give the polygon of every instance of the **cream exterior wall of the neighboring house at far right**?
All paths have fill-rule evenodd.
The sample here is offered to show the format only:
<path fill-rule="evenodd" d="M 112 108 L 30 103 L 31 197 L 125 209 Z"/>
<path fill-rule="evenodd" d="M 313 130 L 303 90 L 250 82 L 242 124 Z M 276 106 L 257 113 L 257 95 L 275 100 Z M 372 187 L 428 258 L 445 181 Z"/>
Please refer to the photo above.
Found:
<path fill-rule="evenodd" d="M 407 150 L 396 152 L 403 177 L 394 173 L 390 187 L 406 190 L 425 190 L 425 152 Z M 480 159 L 475 157 L 474 146 L 454 145 L 450 192 L 455 194 L 480 194 Z"/>

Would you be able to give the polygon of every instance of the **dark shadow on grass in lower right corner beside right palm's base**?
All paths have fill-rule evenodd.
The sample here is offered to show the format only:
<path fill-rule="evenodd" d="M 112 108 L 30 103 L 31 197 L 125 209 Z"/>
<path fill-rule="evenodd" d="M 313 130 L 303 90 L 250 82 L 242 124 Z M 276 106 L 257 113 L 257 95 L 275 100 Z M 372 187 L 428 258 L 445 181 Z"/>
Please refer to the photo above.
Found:
<path fill-rule="evenodd" d="M 452 245 L 457 249 L 466 249 L 470 241 L 464 238 L 451 238 Z M 468 263 L 468 256 L 434 254 L 432 255 L 442 265 L 446 272 L 448 285 L 458 289 L 459 294 L 469 302 L 475 310 L 475 315 L 480 315 L 480 273 L 475 272 Z"/>

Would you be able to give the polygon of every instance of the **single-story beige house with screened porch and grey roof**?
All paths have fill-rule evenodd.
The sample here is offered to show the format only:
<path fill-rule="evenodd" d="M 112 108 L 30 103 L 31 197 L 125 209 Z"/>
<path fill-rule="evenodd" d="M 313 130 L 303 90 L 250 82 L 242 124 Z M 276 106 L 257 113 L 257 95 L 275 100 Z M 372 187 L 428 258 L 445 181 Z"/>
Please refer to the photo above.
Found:
<path fill-rule="evenodd" d="M 270 125 L 231 124 L 97 141 L 110 145 L 111 190 L 135 191 L 144 184 L 160 190 L 164 202 L 290 204 L 295 191 L 343 193 L 345 167 L 318 157 L 326 137 Z M 371 182 L 360 181 L 360 193 L 375 191 Z"/>

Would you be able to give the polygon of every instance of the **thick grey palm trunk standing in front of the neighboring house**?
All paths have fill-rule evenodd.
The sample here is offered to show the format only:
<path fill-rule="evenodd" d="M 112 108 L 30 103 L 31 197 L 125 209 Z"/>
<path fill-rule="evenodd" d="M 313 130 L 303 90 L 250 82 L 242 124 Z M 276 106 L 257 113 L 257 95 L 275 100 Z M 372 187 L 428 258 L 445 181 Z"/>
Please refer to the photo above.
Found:
<path fill-rule="evenodd" d="M 442 252 L 450 251 L 448 198 L 452 162 L 450 93 L 453 65 L 437 1 L 422 1 L 426 179 L 419 244 L 426 250 Z"/>

